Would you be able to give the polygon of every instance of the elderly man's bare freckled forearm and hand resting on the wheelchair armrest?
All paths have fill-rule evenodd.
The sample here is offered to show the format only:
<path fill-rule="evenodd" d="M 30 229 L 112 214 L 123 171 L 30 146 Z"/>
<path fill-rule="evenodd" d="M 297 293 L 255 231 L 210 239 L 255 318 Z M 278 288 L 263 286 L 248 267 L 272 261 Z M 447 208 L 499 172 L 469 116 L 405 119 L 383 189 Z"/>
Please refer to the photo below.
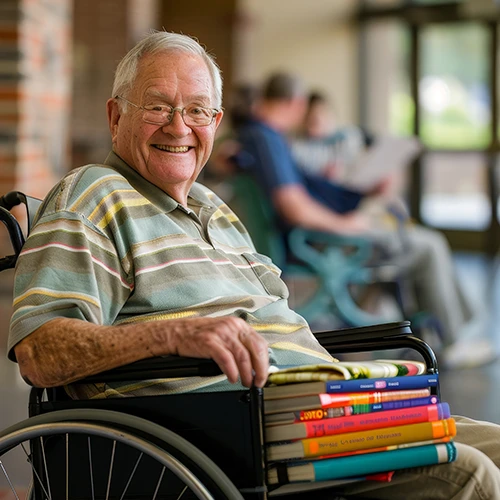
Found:
<path fill-rule="evenodd" d="M 262 387 L 269 364 L 267 342 L 234 316 L 120 326 L 58 318 L 35 330 L 14 349 L 21 375 L 35 387 L 57 387 L 168 354 L 211 358 L 229 381 L 234 383 L 239 376 L 247 387 L 252 380 Z"/>

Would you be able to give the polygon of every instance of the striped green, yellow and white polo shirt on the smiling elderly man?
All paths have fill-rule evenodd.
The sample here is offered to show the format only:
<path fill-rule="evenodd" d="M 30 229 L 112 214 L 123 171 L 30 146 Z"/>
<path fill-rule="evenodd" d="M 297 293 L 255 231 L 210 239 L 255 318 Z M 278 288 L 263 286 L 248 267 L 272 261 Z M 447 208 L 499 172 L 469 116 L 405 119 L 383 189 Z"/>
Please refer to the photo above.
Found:
<path fill-rule="evenodd" d="M 331 361 L 288 307 L 280 270 L 238 217 L 193 184 L 184 207 L 116 154 L 72 170 L 48 194 L 19 257 L 13 347 L 58 317 L 98 325 L 235 315 L 268 342 L 271 363 Z M 71 384 L 76 398 L 241 388 L 226 377 Z"/>

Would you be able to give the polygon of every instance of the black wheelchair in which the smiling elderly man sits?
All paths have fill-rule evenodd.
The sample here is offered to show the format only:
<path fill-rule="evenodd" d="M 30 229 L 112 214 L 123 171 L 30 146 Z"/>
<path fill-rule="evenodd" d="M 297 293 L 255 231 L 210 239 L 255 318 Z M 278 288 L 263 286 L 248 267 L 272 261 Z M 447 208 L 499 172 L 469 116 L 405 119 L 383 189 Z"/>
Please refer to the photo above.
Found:
<path fill-rule="evenodd" d="M 10 209 L 24 204 L 30 227 L 33 208 L 40 201 L 29 200 L 20 193 L 9 193 L 0 198 L 0 220 L 9 230 L 15 251 L 13 256 L 0 259 L 0 271 L 13 267 L 24 244 L 23 232 Z M 438 372 L 434 352 L 423 340 L 413 336 L 408 321 L 315 335 L 329 352 L 335 354 L 411 348 L 422 356 L 428 373 Z M 165 356 L 93 375 L 81 383 L 220 373 L 211 360 Z M 436 388 L 435 393 L 438 391 Z M 117 436 L 116 439 L 124 440 L 134 449 L 152 453 L 156 461 L 181 477 L 198 498 L 265 500 L 268 496 L 280 494 L 283 487 L 271 488 L 266 484 L 263 407 L 262 389 L 257 388 L 93 400 L 70 400 L 62 388 L 33 388 L 29 418 L 0 432 L 0 465 L 5 451 L 20 440 L 29 441 L 29 456 L 33 460 L 35 475 L 43 475 L 47 457 L 41 436 L 74 432 Z M 69 478 L 67 481 L 66 488 Z M 29 497 L 37 500 L 64 497 L 59 490 L 55 495 L 47 495 L 45 488 L 50 491 L 50 484 L 42 478 L 39 484 L 35 482 Z"/>

